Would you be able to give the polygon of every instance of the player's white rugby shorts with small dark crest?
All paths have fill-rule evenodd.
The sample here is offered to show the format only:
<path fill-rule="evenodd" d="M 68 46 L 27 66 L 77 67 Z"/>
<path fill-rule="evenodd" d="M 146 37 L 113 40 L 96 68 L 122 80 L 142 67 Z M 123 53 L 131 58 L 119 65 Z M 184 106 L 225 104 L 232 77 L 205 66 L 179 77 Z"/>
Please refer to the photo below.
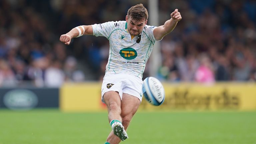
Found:
<path fill-rule="evenodd" d="M 117 91 L 122 100 L 123 93 L 137 97 L 140 102 L 142 100 L 142 84 L 143 81 L 139 77 L 130 74 L 107 74 L 103 78 L 101 86 L 101 101 L 103 103 L 103 95 L 108 91 Z"/>

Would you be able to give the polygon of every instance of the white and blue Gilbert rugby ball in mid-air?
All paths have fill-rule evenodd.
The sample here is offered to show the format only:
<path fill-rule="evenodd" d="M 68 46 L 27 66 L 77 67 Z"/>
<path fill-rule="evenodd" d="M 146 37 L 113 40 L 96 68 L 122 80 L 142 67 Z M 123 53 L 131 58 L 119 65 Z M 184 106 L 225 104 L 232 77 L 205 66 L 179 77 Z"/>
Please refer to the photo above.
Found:
<path fill-rule="evenodd" d="M 143 81 L 142 92 L 144 98 L 154 106 L 159 106 L 164 102 L 164 87 L 162 83 L 154 77 L 147 77 Z"/>

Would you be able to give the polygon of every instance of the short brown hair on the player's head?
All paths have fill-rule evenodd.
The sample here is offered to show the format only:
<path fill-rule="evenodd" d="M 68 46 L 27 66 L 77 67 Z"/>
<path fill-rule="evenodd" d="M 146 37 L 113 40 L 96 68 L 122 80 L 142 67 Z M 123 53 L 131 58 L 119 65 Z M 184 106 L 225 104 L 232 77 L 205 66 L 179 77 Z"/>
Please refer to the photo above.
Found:
<path fill-rule="evenodd" d="M 148 10 L 143 6 L 143 4 L 138 4 L 135 6 L 132 6 L 128 12 L 127 16 L 131 16 L 132 20 L 135 20 L 135 22 L 141 21 L 141 19 L 148 19 Z"/>

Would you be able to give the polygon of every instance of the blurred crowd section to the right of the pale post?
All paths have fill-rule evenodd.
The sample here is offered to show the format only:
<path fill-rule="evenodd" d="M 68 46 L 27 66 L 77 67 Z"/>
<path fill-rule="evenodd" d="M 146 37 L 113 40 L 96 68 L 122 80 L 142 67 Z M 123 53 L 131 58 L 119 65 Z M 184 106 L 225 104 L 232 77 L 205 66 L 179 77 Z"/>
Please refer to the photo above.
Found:
<path fill-rule="evenodd" d="M 159 78 L 173 82 L 255 81 L 256 1 L 196 0 L 170 5 L 164 0 L 160 7 L 165 19 L 165 11 L 179 7 L 182 21 L 161 42 Z"/>

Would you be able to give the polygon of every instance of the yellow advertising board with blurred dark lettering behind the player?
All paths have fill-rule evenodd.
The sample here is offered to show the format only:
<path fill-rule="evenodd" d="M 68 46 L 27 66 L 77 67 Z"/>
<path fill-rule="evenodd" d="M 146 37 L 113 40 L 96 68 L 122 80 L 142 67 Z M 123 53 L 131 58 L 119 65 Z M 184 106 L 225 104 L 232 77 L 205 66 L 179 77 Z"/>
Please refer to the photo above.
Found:
<path fill-rule="evenodd" d="M 255 110 L 256 84 L 164 83 L 165 101 L 152 106 L 145 99 L 140 110 Z M 60 109 L 63 111 L 106 110 L 101 102 L 101 83 L 65 84 L 60 90 Z"/>

